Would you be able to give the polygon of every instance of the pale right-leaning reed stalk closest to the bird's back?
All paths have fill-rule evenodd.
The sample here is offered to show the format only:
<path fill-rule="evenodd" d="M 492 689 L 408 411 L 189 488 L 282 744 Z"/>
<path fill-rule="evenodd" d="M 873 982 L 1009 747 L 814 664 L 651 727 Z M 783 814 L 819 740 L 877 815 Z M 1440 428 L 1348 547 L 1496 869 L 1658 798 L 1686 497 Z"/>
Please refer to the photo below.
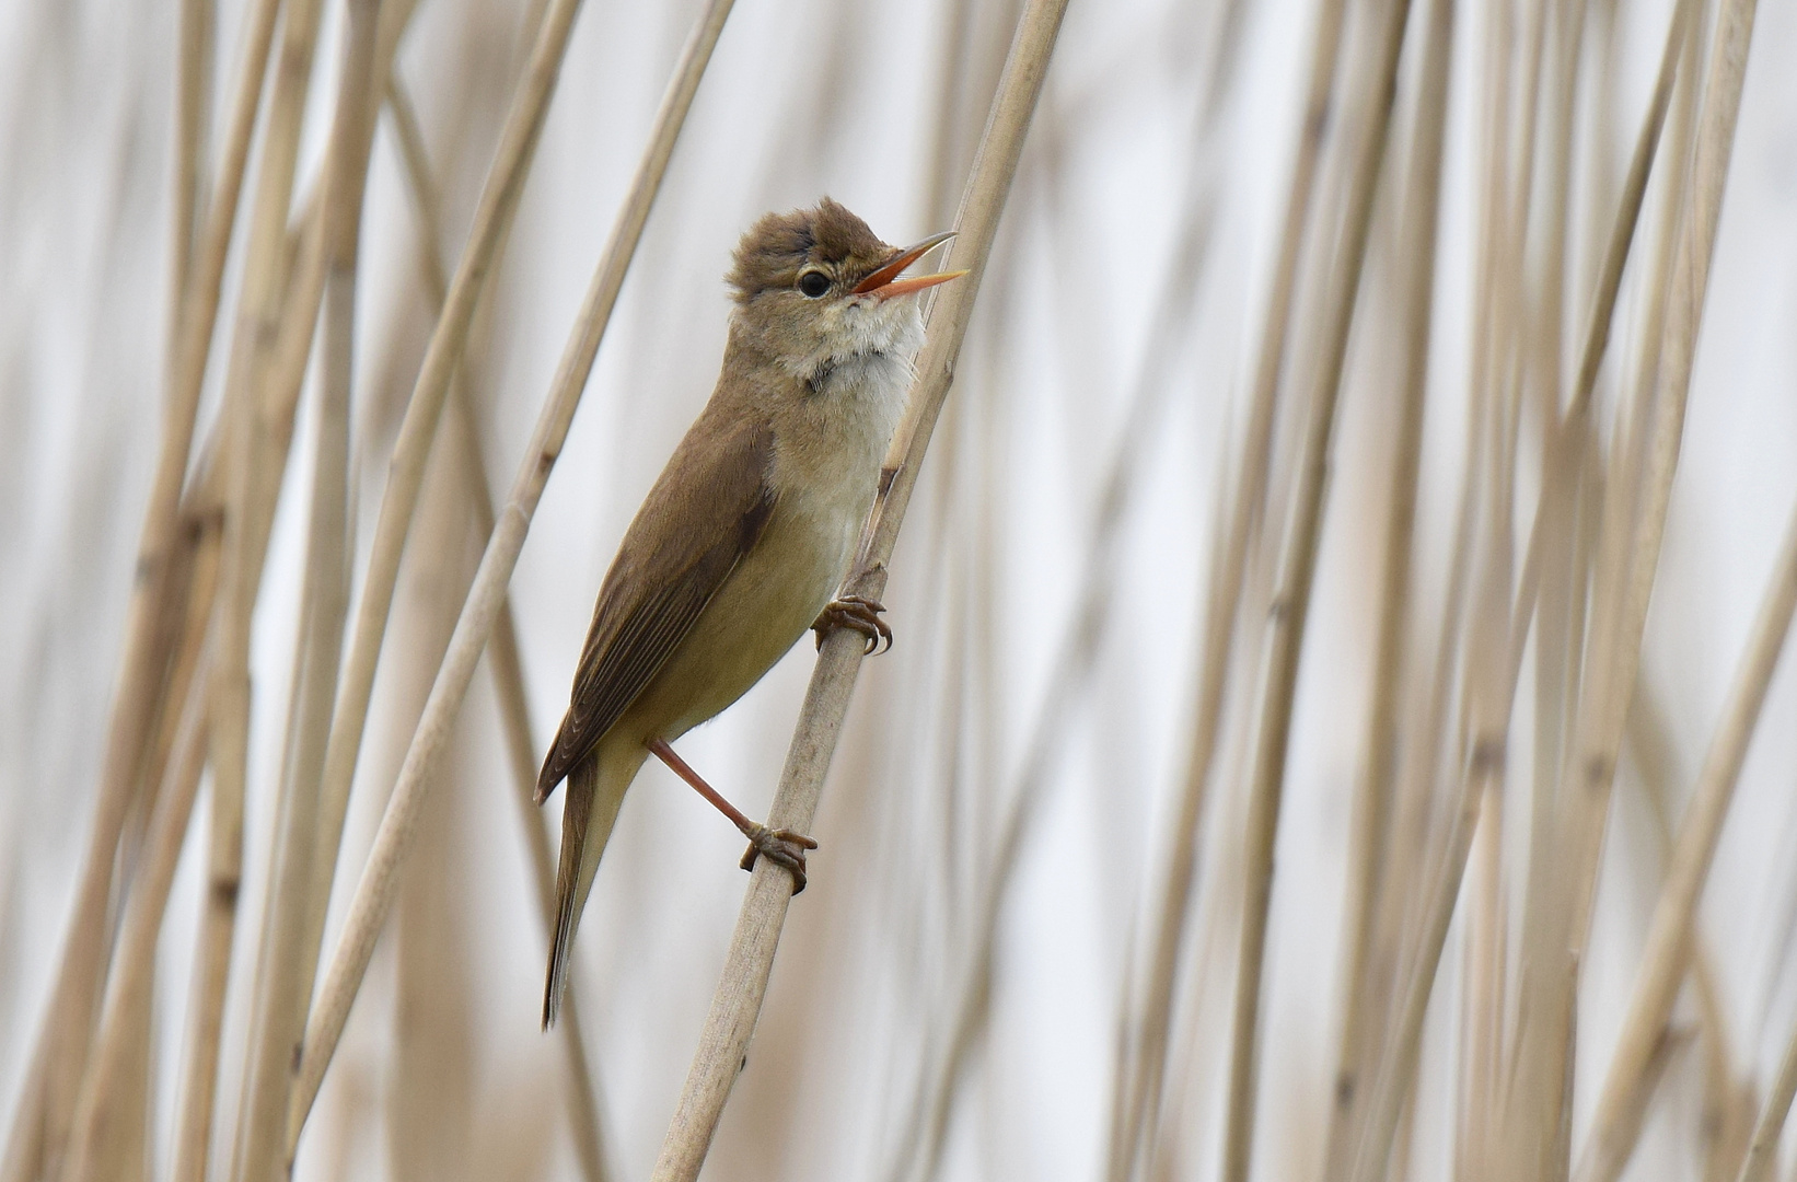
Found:
<path fill-rule="evenodd" d="M 374 850 L 368 853 L 368 862 L 363 866 L 361 880 L 356 884 L 356 895 L 350 900 L 349 918 L 343 923 L 343 936 L 338 941 L 318 1004 L 305 1028 L 305 1049 L 300 1062 L 298 1083 L 293 1090 L 293 1108 L 288 1123 L 289 1160 L 293 1146 L 298 1142 L 300 1130 L 305 1125 L 305 1116 L 311 1112 L 313 1101 L 318 1096 L 325 1067 L 329 1067 L 338 1038 L 343 1035 L 343 1022 L 349 1019 L 350 1004 L 354 1004 L 356 993 L 361 988 L 363 974 L 368 968 L 368 957 L 374 956 L 374 941 L 379 936 L 386 913 L 392 907 L 399 869 L 410 851 L 417 816 L 426 801 L 426 787 L 431 778 L 431 769 L 442 753 L 451 728 L 455 726 L 455 717 L 462 708 L 462 699 L 465 697 L 467 686 L 474 677 L 474 666 L 487 645 L 487 636 L 492 631 L 500 605 L 505 602 L 505 586 L 510 582 L 512 569 L 518 566 L 518 553 L 523 550 L 525 534 L 530 528 L 530 516 L 536 512 L 537 501 L 543 498 L 543 487 L 548 483 L 550 472 L 555 467 L 555 458 L 561 454 L 561 447 L 568 438 L 568 426 L 573 420 L 575 408 L 580 404 L 580 392 L 586 388 L 588 374 L 591 374 L 593 357 L 598 354 L 598 343 L 604 336 L 606 323 L 609 322 L 611 309 L 618 300 L 618 289 L 624 286 L 631 257 L 636 251 L 636 244 L 642 241 L 643 223 L 649 219 L 649 208 L 654 205 L 656 192 L 661 187 L 661 178 L 667 174 L 668 160 L 674 154 L 674 144 L 686 122 L 686 111 L 692 108 L 694 93 L 699 88 L 699 79 L 704 77 L 704 66 L 712 59 L 712 49 L 717 45 L 717 38 L 724 29 L 724 18 L 730 14 L 730 0 L 712 0 L 694 25 L 686 47 L 681 50 L 681 59 L 674 70 L 672 81 L 668 83 L 668 92 L 663 95 L 661 110 L 656 113 L 654 129 L 649 137 L 649 147 L 638 165 L 636 178 L 631 183 L 624 207 L 618 212 L 611 241 L 606 244 L 606 251 L 600 257 L 598 269 L 593 275 L 593 284 L 588 289 L 586 302 L 575 320 L 575 331 L 568 341 L 566 352 L 562 354 L 561 366 L 557 368 L 555 383 L 544 399 L 543 413 L 537 419 L 536 433 L 532 435 L 530 445 L 525 453 L 523 467 L 512 483 L 510 498 L 507 499 L 500 523 L 487 542 L 485 553 L 482 555 L 480 569 L 474 575 L 474 586 L 469 589 L 467 600 L 462 605 L 462 614 L 456 620 L 455 636 L 449 641 L 449 652 L 446 654 L 444 663 L 437 672 L 437 679 L 431 684 L 431 695 L 424 706 L 424 717 L 419 720 L 419 728 L 412 737 L 412 745 L 406 751 L 399 781 L 394 785 L 394 794 L 388 799 L 386 812 L 381 816 L 381 826 L 374 839 Z M 561 16 L 561 9 L 570 11 L 566 16 Z M 571 4 L 550 9 L 550 16 L 544 20 L 543 34 L 537 41 L 536 66 L 532 68 L 534 81 L 543 83 L 543 70 L 537 66 L 548 66 L 548 50 L 559 50 L 561 45 L 566 43 L 566 20 L 571 20 Z M 559 52 L 553 54 L 553 57 L 559 57 Z M 550 70 L 550 74 L 553 72 Z M 543 88 L 546 92 L 546 83 Z M 537 120 L 537 124 L 541 126 L 541 120 Z M 453 300 L 455 296 L 451 295 L 451 302 Z M 447 372 L 444 372 L 444 388 L 437 390 L 435 395 L 438 410 L 446 388 Z"/>

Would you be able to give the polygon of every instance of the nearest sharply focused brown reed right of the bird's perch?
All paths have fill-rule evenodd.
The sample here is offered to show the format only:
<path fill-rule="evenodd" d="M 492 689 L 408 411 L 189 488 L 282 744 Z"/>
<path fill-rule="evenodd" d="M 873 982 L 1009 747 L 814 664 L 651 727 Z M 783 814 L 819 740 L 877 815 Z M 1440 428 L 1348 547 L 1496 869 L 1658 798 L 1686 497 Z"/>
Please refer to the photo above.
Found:
<path fill-rule="evenodd" d="M 1369 79 L 1364 140 L 1353 160 L 1341 251 L 1324 296 L 1323 357 L 1312 392 L 1297 472 L 1296 508 L 1279 559 L 1279 582 L 1267 638 L 1267 679 L 1260 710 L 1260 735 L 1249 787 L 1247 893 L 1244 896 L 1238 957 L 1235 1028 L 1229 1047 L 1229 1099 L 1224 1128 L 1224 1182 L 1247 1182 L 1254 1142 L 1254 1108 L 1260 1078 L 1260 984 L 1267 950 L 1267 914 L 1272 904 L 1272 848 L 1279 826 L 1285 758 L 1297 690 L 1317 548 L 1323 535 L 1323 501 L 1328 485 L 1330 444 L 1341 399 L 1348 336 L 1359 304 L 1360 269 L 1371 237 L 1373 198 L 1391 138 L 1391 113 L 1398 90 L 1398 57 L 1409 0 L 1394 0 L 1384 14 L 1377 74 Z"/>

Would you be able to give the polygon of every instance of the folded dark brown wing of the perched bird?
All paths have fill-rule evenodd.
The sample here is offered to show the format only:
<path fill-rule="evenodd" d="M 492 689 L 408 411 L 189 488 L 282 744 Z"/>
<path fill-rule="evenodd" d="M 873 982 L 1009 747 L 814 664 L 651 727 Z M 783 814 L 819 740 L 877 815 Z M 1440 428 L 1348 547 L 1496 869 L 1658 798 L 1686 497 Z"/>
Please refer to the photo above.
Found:
<path fill-rule="evenodd" d="M 773 431 L 721 429 L 719 419 L 699 415 L 624 534 L 537 776 L 539 803 L 629 710 L 767 525 Z"/>

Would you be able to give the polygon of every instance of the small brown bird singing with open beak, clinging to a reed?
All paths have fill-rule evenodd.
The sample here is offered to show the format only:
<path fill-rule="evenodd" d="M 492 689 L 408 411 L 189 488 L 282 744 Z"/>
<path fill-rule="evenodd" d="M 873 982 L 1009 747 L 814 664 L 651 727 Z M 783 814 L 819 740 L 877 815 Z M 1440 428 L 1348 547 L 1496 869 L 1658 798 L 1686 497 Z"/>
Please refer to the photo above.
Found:
<path fill-rule="evenodd" d="M 543 1026 L 555 1020 L 575 925 L 606 839 L 654 754 L 805 887 L 801 834 L 742 816 L 668 745 L 773 668 L 807 629 L 891 632 L 870 600 L 836 598 L 924 340 L 909 296 L 965 275 L 898 278 L 949 234 L 888 246 L 825 198 L 767 214 L 737 244 L 735 309 L 712 401 L 636 510 L 598 589 L 537 803 L 568 780 Z"/>

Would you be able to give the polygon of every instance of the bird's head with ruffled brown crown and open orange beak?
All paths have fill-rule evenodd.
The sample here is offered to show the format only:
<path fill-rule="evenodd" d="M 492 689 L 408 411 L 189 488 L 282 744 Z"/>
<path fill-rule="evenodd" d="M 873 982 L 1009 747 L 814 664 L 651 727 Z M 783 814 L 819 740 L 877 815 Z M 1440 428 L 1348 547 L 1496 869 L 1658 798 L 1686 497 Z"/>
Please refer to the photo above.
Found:
<path fill-rule="evenodd" d="M 909 356 L 922 327 L 909 296 L 967 271 L 900 273 L 951 237 L 888 246 L 830 198 L 767 214 L 742 235 L 728 277 L 737 331 L 803 381 L 859 354 Z"/>

